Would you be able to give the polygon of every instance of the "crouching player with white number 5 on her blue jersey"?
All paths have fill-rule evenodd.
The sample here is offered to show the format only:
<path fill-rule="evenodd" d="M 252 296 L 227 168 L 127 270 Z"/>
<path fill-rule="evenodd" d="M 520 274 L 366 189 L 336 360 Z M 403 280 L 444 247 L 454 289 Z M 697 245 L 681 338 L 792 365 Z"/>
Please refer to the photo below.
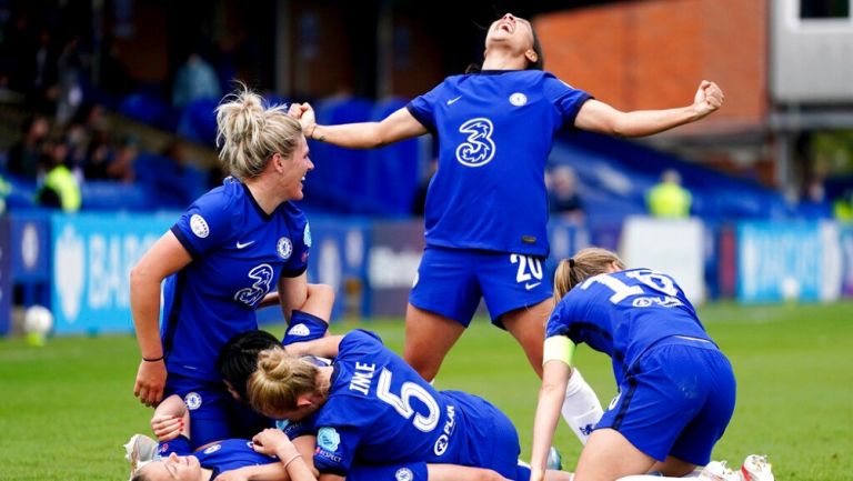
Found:
<path fill-rule="evenodd" d="M 317 367 L 303 353 L 334 362 Z M 519 481 L 530 475 L 505 414 L 475 395 L 436 391 L 365 331 L 261 352 L 247 392 L 257 411 L 312 425 L 320 481 L 352 481 L 354 465 L 419 462 L 485 468 Z"/>

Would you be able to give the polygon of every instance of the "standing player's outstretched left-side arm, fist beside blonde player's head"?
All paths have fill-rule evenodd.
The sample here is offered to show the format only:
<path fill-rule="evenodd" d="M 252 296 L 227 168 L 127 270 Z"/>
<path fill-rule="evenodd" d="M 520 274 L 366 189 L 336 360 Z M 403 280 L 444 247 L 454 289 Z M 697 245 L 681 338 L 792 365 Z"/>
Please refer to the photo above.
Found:
<path fill-rule="evenodd" d="M 299 118 L 302 132 L 307 138 L 351 149 L 373 149 L 426 133 L 426 128 L 405 108 L 393 112 L 380 122 L 340 126 L 318 126 L 314 109 L 308 103 L 294 104 L 290 113 Z"/>

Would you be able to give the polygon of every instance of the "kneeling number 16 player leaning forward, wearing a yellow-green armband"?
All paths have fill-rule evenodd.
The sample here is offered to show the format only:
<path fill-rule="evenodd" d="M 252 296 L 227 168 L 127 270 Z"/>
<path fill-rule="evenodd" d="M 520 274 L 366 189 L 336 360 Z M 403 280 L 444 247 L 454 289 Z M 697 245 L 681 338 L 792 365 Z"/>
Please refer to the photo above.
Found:
<path fill-rule="evenodd" d="M 554 294 L 560 301 L 546 327 L 531 481 L 543 479 L 581 342 L 612 358 L 619 394 L 583 448 L 575 481 L 650 471 L 681 477 L 708 464 L 734 411 L 735 379 L 675 281 L 625 270 L 615 253 L 589 248 L 560 262 Z"/>

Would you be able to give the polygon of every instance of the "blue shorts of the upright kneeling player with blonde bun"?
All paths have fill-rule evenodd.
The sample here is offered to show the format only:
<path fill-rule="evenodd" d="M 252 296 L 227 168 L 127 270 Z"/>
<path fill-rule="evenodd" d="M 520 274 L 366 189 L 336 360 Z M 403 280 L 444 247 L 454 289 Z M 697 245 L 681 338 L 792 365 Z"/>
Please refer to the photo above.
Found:
<path fill-rule="evenodd" d="M 251 439 L 274 423 L 231 397 L 222 382 L 169 374 L 163 398 L 178 394 L 190 413 L 192 449 L 229 438 Z"/>

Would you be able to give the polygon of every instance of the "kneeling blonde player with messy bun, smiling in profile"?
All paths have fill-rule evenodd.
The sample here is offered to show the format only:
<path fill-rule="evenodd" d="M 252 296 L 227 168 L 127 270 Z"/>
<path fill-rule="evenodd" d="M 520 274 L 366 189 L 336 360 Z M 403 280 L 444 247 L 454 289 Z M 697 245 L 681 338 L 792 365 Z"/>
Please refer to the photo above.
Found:
<path fill-rule="evenodd" d="M 274 283 L 287 319 L 309 295 L 311 234 L 291 202 L 302 199 L 313 169 L 299 122 L 243 90 L 217 108 L 217 123 L 220 159 L 233 178 L 193 202 L 152 245 L 130 288 L 142 353 L 133 392 L 147 405 L 164 394 L 183 398 L 195 447 L 238 435 L 241 424 L 245 437 L 268 425 L 257 415 L 238 419 L 250 413 L 240 413 L 223 388 L 217 355 L 232 335 L 258 328 L 255 308 Z"/>

